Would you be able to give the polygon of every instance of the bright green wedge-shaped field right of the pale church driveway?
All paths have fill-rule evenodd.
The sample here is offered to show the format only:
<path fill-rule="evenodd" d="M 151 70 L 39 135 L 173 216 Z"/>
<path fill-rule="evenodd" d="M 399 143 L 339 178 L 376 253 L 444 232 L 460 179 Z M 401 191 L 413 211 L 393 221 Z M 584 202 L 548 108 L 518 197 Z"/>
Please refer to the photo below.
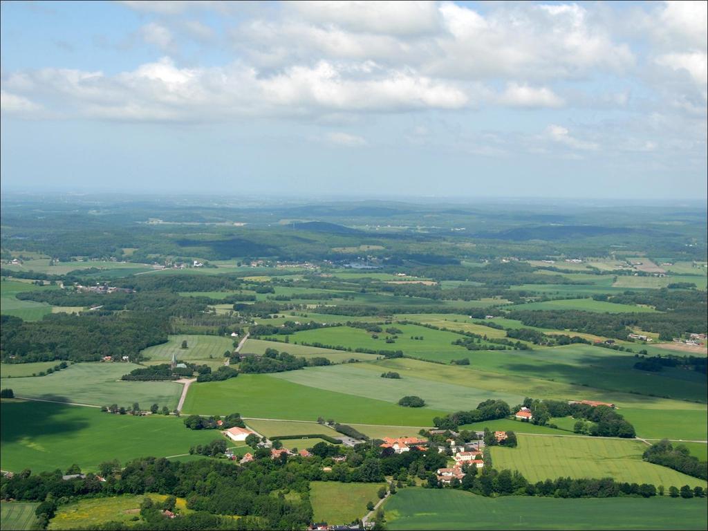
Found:
<path fill-rule="evenodd" d="M 239 375 L 224 382 L 195 383 L 189 388 L 183 413 L 227 415 L 238 411 L 250 418 L 341 423 L 432 426 L 442 411 L 404 408 L 387 401 L 315 389 L 271 375 Z"/>

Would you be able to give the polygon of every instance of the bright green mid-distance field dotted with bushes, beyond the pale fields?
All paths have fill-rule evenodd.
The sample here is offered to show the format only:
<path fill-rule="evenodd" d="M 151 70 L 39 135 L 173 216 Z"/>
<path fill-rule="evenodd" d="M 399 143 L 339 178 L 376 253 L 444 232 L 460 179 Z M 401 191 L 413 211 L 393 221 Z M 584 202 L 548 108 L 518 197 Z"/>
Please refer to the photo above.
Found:
<path fill-rule="evenodd" d="M 387 336 L 391 334 L 382 331 L 377 333 L 378 338 L 362 329 L 349 326 L 335 326 L 326 329 L 304 330 L 296 332 L 290 337 L 290 343 L 321 343 L 329 346 L 343 346 L 346 348 L 369 348 L 372 350 L 402 350 L 405 355 L 440 360 L 449 362 L 452 359 L 464 358 L 469 352 L 466 348 L 452 345 L 452 341 L 462 338 L 460 334 L 440 330 L 426 329 L 424 326 L 414 324 L 392 325 L 401 330 L 394 343 L 387 343 Z M 386 328 L 383 326 L 382 328 Z M 413 339 L 422 337 L 423 339 Z"/>

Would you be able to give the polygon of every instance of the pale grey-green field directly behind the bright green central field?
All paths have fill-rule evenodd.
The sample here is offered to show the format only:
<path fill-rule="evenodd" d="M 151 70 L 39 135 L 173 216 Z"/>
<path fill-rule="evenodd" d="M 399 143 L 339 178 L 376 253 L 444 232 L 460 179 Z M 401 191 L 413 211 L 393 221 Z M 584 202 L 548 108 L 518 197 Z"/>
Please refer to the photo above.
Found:
<path fill-rule="evenodd" d="M 438 411 L 474 409 L 486 399 L 501 399 L 518 404 L 521 394 L 495 392 L 491 389 L 434 382 L 414 375 L 401 375 L 401 379 L 382 378 L 383 370 L 372 370 L 360 363 L 348 363 L 335 367 L 307 367 L 304 370 L 278 372 L 274 377 L 315 389 L 342 392 L 384 400 L 396 404 L 402 396 L 414 394 L 426 401 L 426 408 Z M 435 367 L 430 367 L 435 370 Z"/>

